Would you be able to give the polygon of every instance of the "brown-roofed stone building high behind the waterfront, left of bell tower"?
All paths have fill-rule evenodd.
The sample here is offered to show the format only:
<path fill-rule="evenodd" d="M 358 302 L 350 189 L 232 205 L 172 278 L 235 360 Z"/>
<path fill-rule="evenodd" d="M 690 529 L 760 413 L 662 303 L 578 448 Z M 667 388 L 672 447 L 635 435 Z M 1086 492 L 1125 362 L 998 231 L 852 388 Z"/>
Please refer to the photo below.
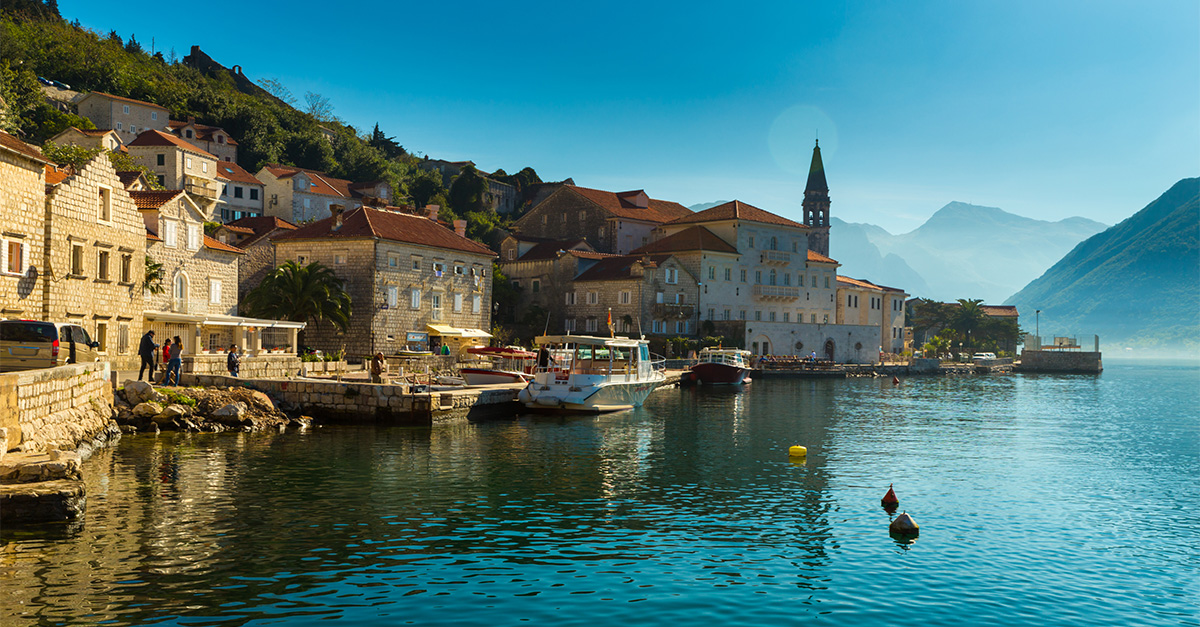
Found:
<path fill-rule="evenodd" d="M 650 241 L 659 225 L 691 215 L 642 190 L 608 192 L 563 185 L 514 225 L 522 237 L 586 239 L 600 252 L 626 255 Z"/>

